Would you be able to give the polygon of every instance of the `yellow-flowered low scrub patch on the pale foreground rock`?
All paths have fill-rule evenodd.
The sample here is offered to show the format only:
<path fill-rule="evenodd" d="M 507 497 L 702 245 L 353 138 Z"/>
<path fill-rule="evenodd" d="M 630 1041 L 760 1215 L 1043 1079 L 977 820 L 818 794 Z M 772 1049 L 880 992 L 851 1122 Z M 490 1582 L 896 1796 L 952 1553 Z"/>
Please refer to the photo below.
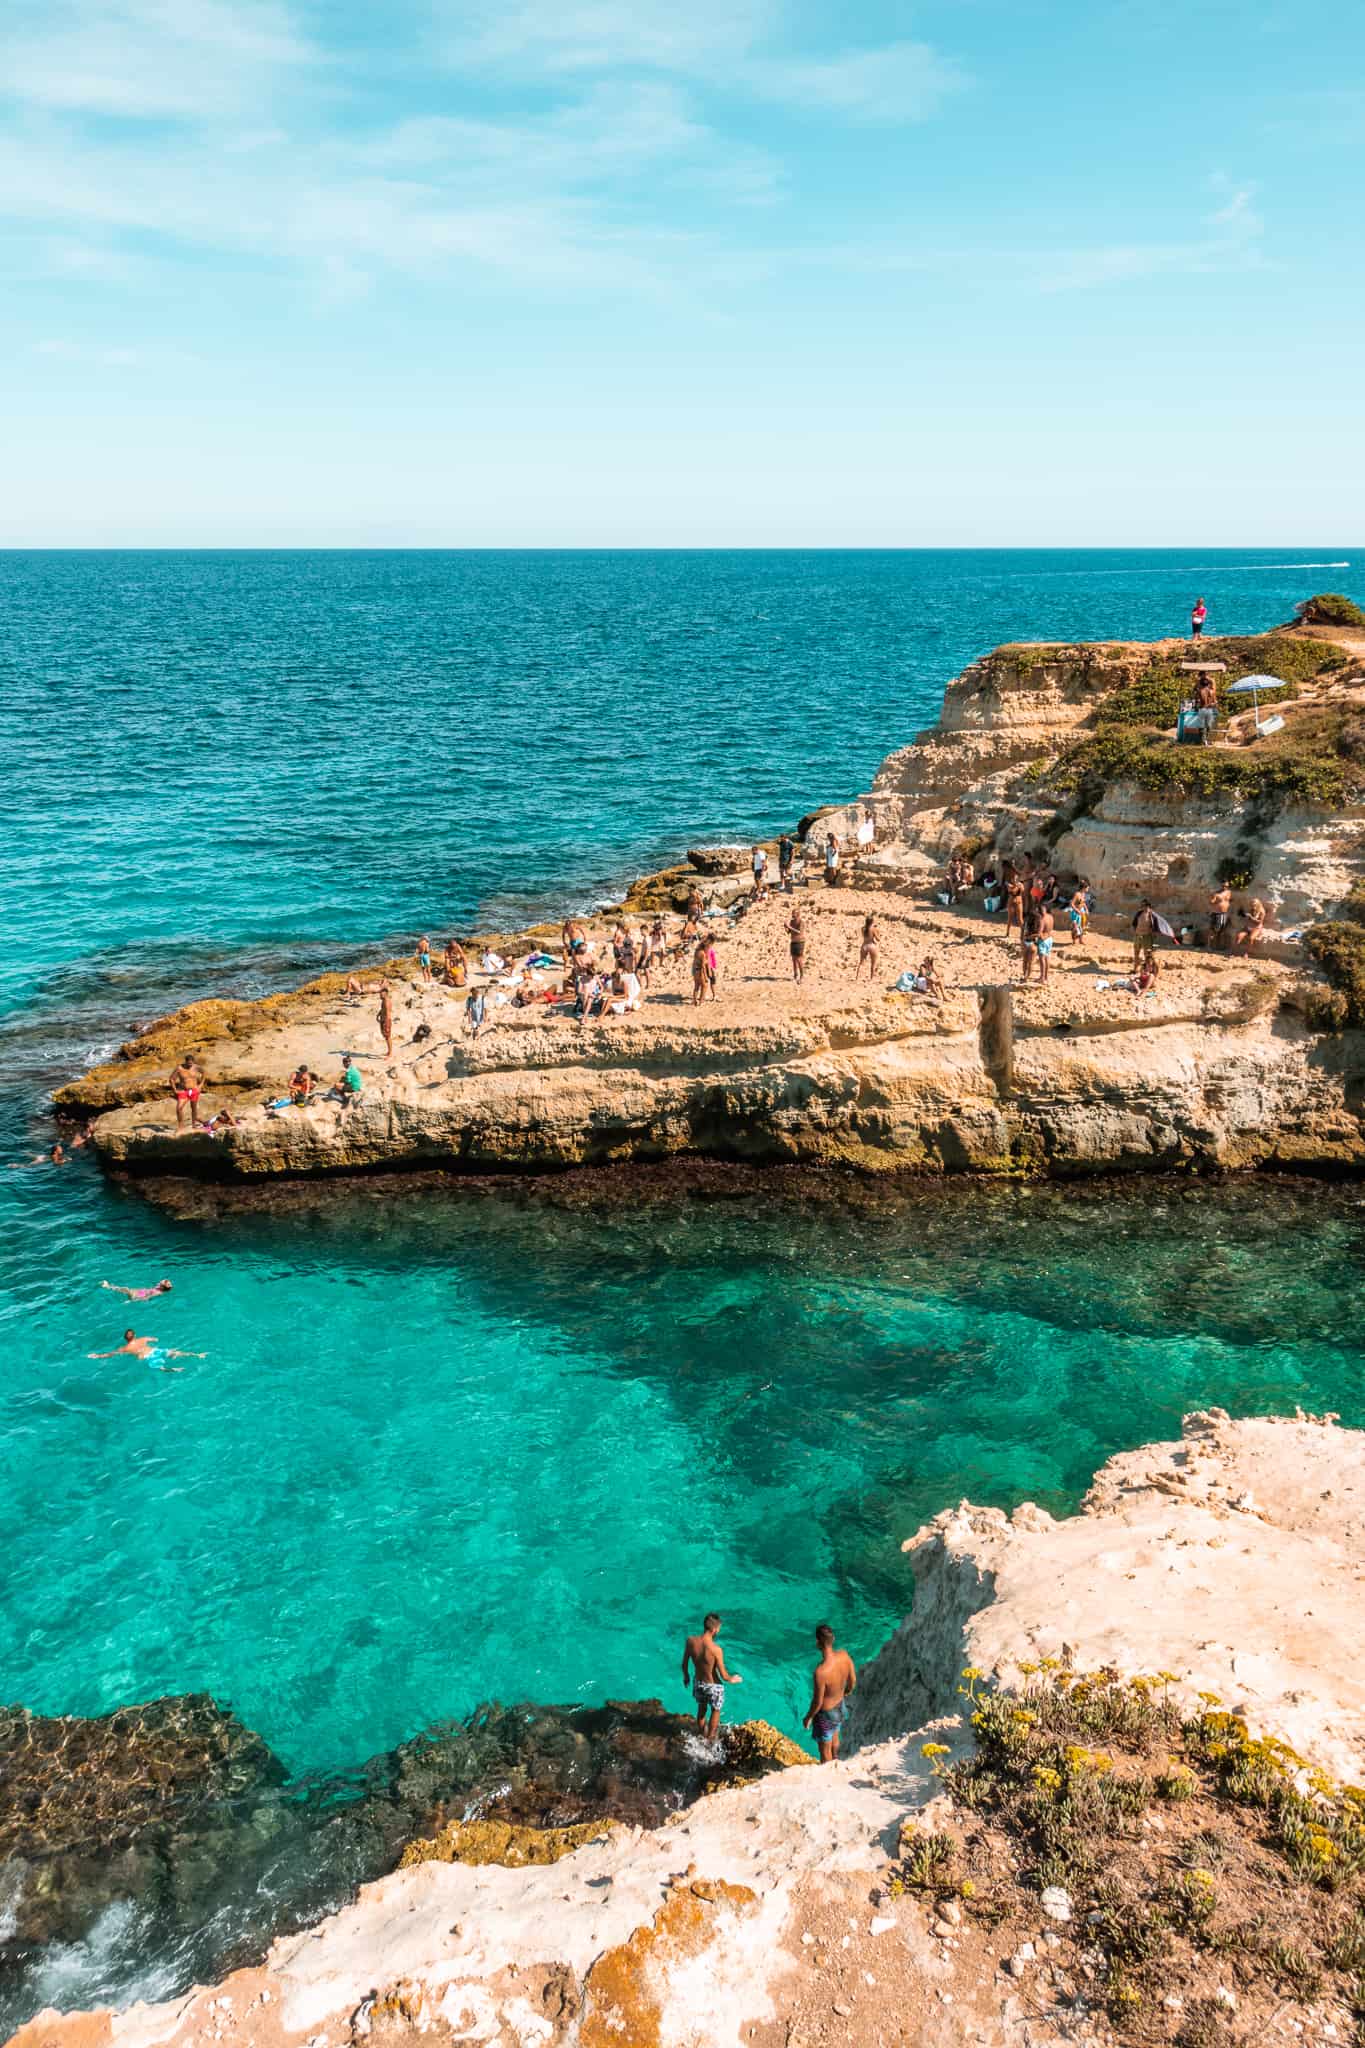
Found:
<path fill-rule="evenodd" d="M 1277 2011 L 1365 2044 L 1365 1788 L 1338 1786 L 1173 1673 L 964 1673 L 974 1753 L 925 1755 L 952 1823 L 907 1827 L 886 1890 L 921 1890 L 1056 2003 L 1134 2042 L 1244 2042 Z M 1040 1974 L 1042 1972 L 1042 1974 Z"/>

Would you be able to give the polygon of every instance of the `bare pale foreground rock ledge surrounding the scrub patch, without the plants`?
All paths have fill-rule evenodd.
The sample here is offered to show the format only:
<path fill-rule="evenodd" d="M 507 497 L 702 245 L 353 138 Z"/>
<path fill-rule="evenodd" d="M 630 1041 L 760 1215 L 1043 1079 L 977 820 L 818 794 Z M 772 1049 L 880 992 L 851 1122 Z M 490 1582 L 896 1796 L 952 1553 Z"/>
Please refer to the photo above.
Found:
<path fill-rule="evenodd" d="M 864 1673 L 847 1761 L 716 1792 L 665 1827 L 622 1827 L 555 1864 L 420 1862 L 276 1942 L 258 1970 L 121 2015 L 41 2013 L 16 2042 L 1036 2048 L 1107 2038 L 1085 1993 L 1052 1989 L 1044 2019 L 1019 1985 L 1025 1950 L 1046 1958 L 1038 1907 L 1038 1942 L 1011 1954 L 1017 1929 L 993 1933 L 962 1909 L 943 1919 L 882 1882 L 907 1829 L 919 1839 L 939 1825 L 923 1745 L 970 1749 L 964 1661 L 995 1686 L 1054 1653 L 1087 1669 L 1171 1673 L 1191 1708 L 1216 1692 L 1252 1731 L 1359 1778 L 1365 1436 L 1330 1419 L 1191 1415 L 1179 1444 L 1113 1458 L 1068 1520 L 962 1503 L 909 1550 L 917 1612 Z M 1279 2032 L 1265 2038 L 1347 2040 L 1326 2034 L 1336 2025 L 1326 2011 L 1289 1997 L 1277 2007 Z M 1297 2032 L 1285 2032 L 1285 2015 Z M 1175 2040 L 1177 2019 L 1162 2019 L 1164 2032 L 1142 2038 Z"/>

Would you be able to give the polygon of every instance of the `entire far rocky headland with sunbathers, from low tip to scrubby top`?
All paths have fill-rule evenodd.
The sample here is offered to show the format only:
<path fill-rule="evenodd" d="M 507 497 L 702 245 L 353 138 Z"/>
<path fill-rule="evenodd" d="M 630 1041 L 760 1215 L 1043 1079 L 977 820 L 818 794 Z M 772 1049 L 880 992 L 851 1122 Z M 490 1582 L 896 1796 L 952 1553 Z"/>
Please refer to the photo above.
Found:
<path fill-rule="evenodd" d="M 577 1020 L 546 999 L 559 967 L 532 969 L 536 999 L 518 1008 L 520 969 L 475 971 L 487 1018 L 471 1036 L 465 987 L 387 963 L 360 977 L 358 999 L 334 975 L 256 1004 L 190 1004 L 59 1090 L 57 1110 L 92 1120 L 113 1171 L 239 1182 L 688 1153 L 933 1174 L 1359 1174 L 1365 641 L 1314 629 L 1205 643 L 1220 688 L 1246 672 L 1285 678 L 1283 727 L 1261 731 L 1224 694 L 1207 748 L 1177 735 L 1185 651 L 1003 647 L 948 686 L 939 725 L 894 752 L 864 799 L 802 821 L 790 893 L 755 899 L 743 850 L 696 850 L 645 879 L 620 913 L 639 930 L 665 909 L 675 950 L 639 1010 Z M 835 885 L 829 834 L 843 848 Z M 1058 909 L 1046 985 L 1019 979 L 1017 940 L 980 885 L 939 899 L 954 854 L 978 874 L 1027 856 L 1064 885 L 1089 881 L 1091 930 L 1072 944 Z M 1267 905 L 1254 944 L 1236 944 L 1236 915 L 1212 928 L 1222 883 Z M 700 1004 L 694 946 L 677 948 L 694 889 L 718 969 Z M 1144 899 L 1179 946 L 1162 944 L 1156 983 L 1136 991 L 1124 983 Z M 585 920 L 608 958 L 614 918 Z M 520 963 L 538 946 L 559 954 L 559 930 L 473 942 L 471 961 L 489 944 Z M 927 956 L 943 993 L 898 989 Z M 203 1112 L 233 1118 L 215 1135 L 176 1128 L 168 1075 L 190 1053 Z M 299 1063 L 332 1083 L 346 1053 L 360 1100 L 268 1106 Z"/>

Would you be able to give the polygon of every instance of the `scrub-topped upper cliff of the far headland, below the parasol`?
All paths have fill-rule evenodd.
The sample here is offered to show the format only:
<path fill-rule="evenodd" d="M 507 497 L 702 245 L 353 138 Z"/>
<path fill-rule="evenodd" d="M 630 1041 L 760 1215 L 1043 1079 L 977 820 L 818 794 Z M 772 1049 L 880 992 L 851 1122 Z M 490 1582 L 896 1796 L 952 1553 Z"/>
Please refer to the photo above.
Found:
<path fill-rule="evenodd" d="M 1330 795 L 1308 801 L 1285 774 L 1285 788 L 1257 788 L 1265 762 L 1314 752 L 1336 756 L 1340 735 L 1355 750 L 1353 725 L 1365 715 L 1365 637 L 1349 631 L 1314 637 L 1271 633 L 1252 641 L 1205 641 L 1193 657 L 1224 662 L 1220 733 L 1238 741 L 1246 786 L 1199 793 L 1205 750 L 1179 750 L 1191 786 L 1154 784 L 1113 772 L 1068 774 L 1068 754 L 1097 733 L 1173 731 L 1175 702 L 1193 688 L 1179 664 L 1189 643 L 1027 645 L 999 651 L 950 682 L 935 729 L 890 754 L 862 799 L 878 825 L 884 864 L 894 872 L 931 872 L 968 844 L 999 856 L 1040 852 L 1058 870 L 1085 874 L 1107 909 L 1160 897 L 1171 915 L 1203 918 L 1209 891 L 1226 868 L 1242 887 L 1279 909 L 1285 926 L 1330 915 L 1365 874 L 1365 801 L 1355 752 L 1326 782 Z M 1330 666 L 1310 674 L 1322 657 Z M 1254 737 L 1244 698 L 1226 694 L 1238 674 L 1302 674 L 1293 696 L 1273 709 L 1283 735 Z M 1144 717 L 1146 713 L 1146 717 Z M 1207 750 L 1222 756 L 1222 748 Z M 1193 760 L 1191 760 L 1193 756 Z M 1226 760 L 1220 766 L 1230 768 Z M 1158 772 L 1171 768 L 1158 760 Z M 1312 778 L 1300 778 L 1312 788 Z M 845 813 L 847 815 L 847 813 Z M 837 827 L 835 827 L 837 829 Z"/>

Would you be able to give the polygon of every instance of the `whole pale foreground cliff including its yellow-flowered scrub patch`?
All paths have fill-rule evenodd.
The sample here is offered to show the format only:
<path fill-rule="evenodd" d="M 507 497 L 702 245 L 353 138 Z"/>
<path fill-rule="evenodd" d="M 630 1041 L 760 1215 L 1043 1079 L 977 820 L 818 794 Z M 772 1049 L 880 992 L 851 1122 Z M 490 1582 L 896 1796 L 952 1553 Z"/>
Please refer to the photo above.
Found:
<path fill-rule="evenodd" d="M 1201 1411 L 1072 1518 L 962 1501 L 905 1548 L 847 1761 L 448 1827 L 264 1964 L 16 2042 L 1347 2044 L 1365 1436 Z"/>

